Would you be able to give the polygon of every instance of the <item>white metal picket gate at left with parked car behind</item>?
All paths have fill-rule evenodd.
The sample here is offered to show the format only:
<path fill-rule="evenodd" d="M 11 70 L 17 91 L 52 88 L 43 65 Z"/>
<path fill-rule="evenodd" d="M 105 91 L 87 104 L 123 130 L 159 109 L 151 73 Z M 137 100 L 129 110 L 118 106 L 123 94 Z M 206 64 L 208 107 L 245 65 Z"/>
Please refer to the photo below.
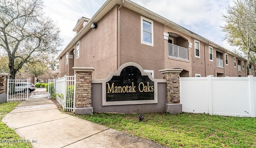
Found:
<path fill-rule="evenodd" d="M 28 100 L 28 79 L 10 80 L 7 79 L 6 101 L 27 101 Z"/>

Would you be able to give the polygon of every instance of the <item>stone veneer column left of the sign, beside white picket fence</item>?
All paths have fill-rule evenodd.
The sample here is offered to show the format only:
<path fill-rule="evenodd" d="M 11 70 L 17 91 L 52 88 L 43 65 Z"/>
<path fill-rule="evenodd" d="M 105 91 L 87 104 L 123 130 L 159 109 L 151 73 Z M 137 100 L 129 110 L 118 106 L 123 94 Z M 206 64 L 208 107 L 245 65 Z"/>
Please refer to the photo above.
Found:
<path fill-rule="evenodd" d="M 76 75 L 76 114 L 92 114 L 92 67 L 73 67 Z"/>

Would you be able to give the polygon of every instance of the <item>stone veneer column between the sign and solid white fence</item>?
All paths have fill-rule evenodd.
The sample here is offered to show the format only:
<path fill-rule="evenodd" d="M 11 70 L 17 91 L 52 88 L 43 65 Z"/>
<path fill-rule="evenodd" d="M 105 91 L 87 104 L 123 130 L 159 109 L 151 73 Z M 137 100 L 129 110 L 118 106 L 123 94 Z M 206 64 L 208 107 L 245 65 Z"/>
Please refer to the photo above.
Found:
<path fill-rule="evenodd" d="M 183 69 L 163 69 L 159 72 L 166 79 L 166 104 L 165 111 L 170 114 L 182 113 L 180 104 L 180 73 Z"/>

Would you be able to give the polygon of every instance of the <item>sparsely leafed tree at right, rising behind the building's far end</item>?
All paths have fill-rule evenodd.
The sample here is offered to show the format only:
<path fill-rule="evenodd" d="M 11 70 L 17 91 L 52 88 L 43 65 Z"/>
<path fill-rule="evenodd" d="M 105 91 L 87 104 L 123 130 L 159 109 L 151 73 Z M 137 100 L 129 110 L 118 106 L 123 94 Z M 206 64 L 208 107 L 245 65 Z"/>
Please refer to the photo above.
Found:
<path fill-rule="evenodd" d="M 256 1 L 236 0 L 234 6 L 228 6 L 227 15 L 223 15 L 223 18 L 226 22 L 222 27 L 226 33 L 225 39 L 230 45 L 240 47 L 246 54 L 249 67 L 250 61 L 255 62 L 256 59 Z"/>

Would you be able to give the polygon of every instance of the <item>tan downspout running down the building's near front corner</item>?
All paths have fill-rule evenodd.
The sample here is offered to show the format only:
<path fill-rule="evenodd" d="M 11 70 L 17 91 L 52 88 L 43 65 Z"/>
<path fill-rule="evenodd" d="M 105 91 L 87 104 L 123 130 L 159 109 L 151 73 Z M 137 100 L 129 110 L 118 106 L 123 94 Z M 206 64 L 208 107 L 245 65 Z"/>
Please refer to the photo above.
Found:
<path fill-rule="evenodd" d="M 118 8 L 117 14 L 117 67 L 116 70 L 120 67 L 120 9 L 124 6 L 124 0 L 122 0 L 122 4 Z"/>

